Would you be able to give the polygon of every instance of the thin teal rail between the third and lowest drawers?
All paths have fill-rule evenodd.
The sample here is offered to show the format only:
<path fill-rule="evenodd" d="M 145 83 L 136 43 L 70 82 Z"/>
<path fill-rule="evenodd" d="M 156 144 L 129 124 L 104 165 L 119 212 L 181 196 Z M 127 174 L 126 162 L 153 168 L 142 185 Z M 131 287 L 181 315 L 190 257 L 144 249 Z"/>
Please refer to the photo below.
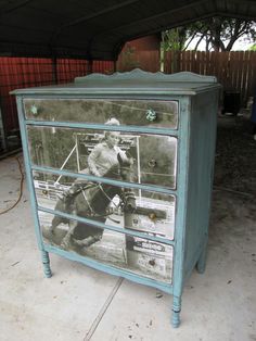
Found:
<path fill-rule="evenodd" d="M 50 213 L 50 214 L 53 214 L 53 215 L 59 215 L 59 216 L 62 216 L 62 217 L 67 218 L 67 219 L 74 219 L 74 220 L 77 220 L 77 222 L 80 222 L 80 223 L 84 223 L 84 224 L 88 224 L 88 225 L 91 225 L 91 226 L 100 227 L 102 229 L 116 231 L 116 232 L 119 232 L 119 233 L 123 233 L 123 235 L 130 235 L 130 236 L 135 236 L 135 237 L 140 237 L 140 238 L 144 238 L 144 239 L 148 239 L 148 240 L 157 241 L 157 242 L 161 242 L 163 244 L 168 244 L 168 245 L 171 245 L 171 247 L 175 244 L 174 240 L 164 239 L 164 238 L 161 238 L 161 237 L 153 237 L 153 236 L 146 235 L 144 232 L 136 232 L 135 230 L 128 229 L 128 228 L 126 229 L 126 228 L 115 227 L 115 226 L 111 226 L 111 225 L 105 225 L 104 223 L 101 223 L 101 222 L 91 220 L 89 218 L 85 218 L 85 217 L 81 217 L 81 216 L 64 213 L 64 212 L 61 212 L 61 211 L 57 211 L 57 210 L 51 210 L 51 209 L 38 206 L 38 211 L 42 211 L 42 212 Z"/>

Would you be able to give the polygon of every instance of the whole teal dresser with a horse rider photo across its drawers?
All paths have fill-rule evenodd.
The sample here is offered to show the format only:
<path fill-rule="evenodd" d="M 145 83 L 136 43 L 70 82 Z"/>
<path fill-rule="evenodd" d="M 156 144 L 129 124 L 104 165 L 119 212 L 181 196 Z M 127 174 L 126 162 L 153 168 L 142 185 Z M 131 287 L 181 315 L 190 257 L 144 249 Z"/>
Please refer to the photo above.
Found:
<path fill-rule="evenodd" d="M 15 90 L 44 274 L 49 253 L 172 294 L 205 269 L 219 85 L 91 74 Z"/>

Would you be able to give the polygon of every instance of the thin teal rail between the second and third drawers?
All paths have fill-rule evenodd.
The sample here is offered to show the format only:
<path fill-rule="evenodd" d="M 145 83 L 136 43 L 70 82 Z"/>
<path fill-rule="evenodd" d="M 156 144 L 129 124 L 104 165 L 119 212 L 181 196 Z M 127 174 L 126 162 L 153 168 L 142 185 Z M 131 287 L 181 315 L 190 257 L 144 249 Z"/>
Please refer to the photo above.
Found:
<path fill-rule="evenodd" d="M 161 192 L 161 193 L 165 193 L 165 194 L 169 194 L 169 195 L 176 195 L 177 194 L 176 190 L 159 188 L 158 185 L 149 186 L 149 185 L 141 185 L 141 184 L 136 184 L 136 182 L 126 182 L 126 181 L 119 181 L 119 180 L 114 180 L 114 179 L 101 178 L 101 177 L 97 177 L 93 175 L 87 175 L 87 174 L 82 174 L 82 173 L 75 173 L 72 171 L 54 169 L 52 167 L 47 167 L 47 166 L 31 165 L 31 169 L 37 171 L 37 172 L 41 172 L 41 173 L 51 173 L 51 174 L 69 176 L 69 177 L 81 178 L 81 179 L 84 178 L 84 179 L 87 179 L 90 181 L 97 181 L 97 182 L 108 184 L 108 185 L 116 185 L 119 187 L 137 188 L 137 189 L 142 189 L 142 190 L 151 191 L 151 192 Z"/>

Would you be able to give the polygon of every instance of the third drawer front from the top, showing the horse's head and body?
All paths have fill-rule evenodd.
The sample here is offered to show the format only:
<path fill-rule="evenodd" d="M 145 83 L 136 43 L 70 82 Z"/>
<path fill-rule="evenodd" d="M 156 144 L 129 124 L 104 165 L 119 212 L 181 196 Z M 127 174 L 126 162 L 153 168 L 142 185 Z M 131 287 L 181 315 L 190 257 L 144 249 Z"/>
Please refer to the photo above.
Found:
<path fill-rule="evenodd" d="M 60 178 L 56 175 L 38 172 L 34 172 L 34 186 L 40 207 L 64 213 L 75 212 L 78 217 L 100 222 L 106 226 L 174 239 L 175 195 L 135 188 L 124 189 L 81 178 L 74 181 L 71 177 Z M 56 235 L 66 229 L 67 222 L 55 226 Z M 46 231 L 51 224 L 52 222 L 44 222 Z M 51 241 L 54 241 L 53 237 L 49 237 Z M 86 238 L 86 230 L 81 231 L 80 237 Z"/>

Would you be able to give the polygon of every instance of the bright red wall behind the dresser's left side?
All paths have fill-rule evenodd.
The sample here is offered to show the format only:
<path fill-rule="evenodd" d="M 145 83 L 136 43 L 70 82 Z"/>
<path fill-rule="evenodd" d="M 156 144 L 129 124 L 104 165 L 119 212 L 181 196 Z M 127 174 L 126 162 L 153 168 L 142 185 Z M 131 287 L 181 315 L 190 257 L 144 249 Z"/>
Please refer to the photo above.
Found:
<path fill-rule="evenodd" d="M 73 81 L 75 77 L 88 74 L 86 60 L 59 59 L 56 63 L 57 84 Z M 113 62 L 93 62 L 92 72 L 112 73 Z M 37 58 L 0 58 L 0 105 L 5 134 L 18 129 L 17 112 L 14 96 L 10 91 L 52 85 L 54 66 L 51 59 Z"/>

